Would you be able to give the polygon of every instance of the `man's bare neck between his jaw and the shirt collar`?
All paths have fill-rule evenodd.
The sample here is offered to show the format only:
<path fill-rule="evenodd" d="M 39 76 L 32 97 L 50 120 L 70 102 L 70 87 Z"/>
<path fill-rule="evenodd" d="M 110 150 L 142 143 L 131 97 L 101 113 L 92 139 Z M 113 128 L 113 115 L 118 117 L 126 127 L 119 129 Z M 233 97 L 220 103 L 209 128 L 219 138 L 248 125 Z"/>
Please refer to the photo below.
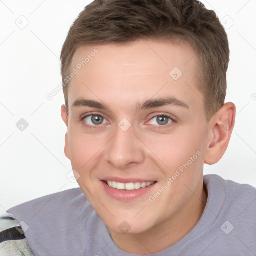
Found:
<path fill-rule="evenodd" d="M 153 254 L 170 247 L 188 234 L 199 221 L 207 202 L 203 183 L 191 192 L 188 202 L 174 215 L 139 234 L 120 234 L 109 230 L 115 244 L 131 254 Z"/>

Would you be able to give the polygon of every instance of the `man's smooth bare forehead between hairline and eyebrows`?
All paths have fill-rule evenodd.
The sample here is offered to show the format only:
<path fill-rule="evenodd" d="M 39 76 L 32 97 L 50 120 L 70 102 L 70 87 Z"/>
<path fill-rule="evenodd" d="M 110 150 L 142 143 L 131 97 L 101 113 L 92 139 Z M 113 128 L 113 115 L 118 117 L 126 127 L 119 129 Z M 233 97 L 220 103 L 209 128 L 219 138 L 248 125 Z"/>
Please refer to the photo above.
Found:
<path fill-rule="evenodd" d="M 78 97 L 119 105 L 167 94 L 187 102 L 202 98 L 195 51 L 182 41 L 80 46 L 72 59 L 70 70 L 74 69 L 70 104 Z"/>

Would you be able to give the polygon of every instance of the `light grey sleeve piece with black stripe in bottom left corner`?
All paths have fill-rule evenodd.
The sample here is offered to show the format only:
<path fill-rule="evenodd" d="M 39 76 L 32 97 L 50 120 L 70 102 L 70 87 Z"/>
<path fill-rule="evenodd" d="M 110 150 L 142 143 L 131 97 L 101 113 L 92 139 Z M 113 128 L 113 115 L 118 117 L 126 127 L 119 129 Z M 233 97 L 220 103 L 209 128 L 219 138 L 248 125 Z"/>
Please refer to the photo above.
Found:
<path fill-rule="evenodd" d="M 0 256 L 34 256 L 18 221 L 8 212 L 0 213 Z"/>

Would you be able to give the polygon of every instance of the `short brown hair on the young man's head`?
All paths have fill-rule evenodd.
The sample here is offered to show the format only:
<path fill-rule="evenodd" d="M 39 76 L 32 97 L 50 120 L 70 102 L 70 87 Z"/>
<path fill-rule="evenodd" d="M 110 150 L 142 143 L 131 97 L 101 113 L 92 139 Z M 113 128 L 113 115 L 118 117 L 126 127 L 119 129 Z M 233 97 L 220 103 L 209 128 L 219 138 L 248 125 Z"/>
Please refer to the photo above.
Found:
<path fill-rule="evenodd" d="M 139 39 L 182 39 L 195 50 L 199 88 L 211 117 L 226 95 L 229 62 L 227 34 L 213 10 L 197 0 L 94 0 L 74 21 L 61 51 L 61 75 L 68 113 L 68 80 L 78 46 L 125 44 Z"/>

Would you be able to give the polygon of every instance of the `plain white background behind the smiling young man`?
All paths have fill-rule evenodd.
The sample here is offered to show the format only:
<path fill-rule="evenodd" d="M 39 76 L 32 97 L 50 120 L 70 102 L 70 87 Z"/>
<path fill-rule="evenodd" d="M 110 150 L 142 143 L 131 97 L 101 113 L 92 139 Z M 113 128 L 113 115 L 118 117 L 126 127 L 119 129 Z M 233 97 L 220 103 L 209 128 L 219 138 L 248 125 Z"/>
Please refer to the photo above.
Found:
<path fill-rule="evenodd" d="M 46 95 L 61 83 L 61 47 L 89 2 L 0 0 L 0 210 L 78 187 L 68 179 L 71 164 L 64 155 L 63 92 L 51 100 Z M 231 52 L 226 102 L 237 107 L 228 149 L 217 164 L 205 165 L 204 173 L 256 186 L 256 0 L 202 2 L 226 28 Z M 21 118 L 29 124 L 24 131 L 16 127 Z"/>

